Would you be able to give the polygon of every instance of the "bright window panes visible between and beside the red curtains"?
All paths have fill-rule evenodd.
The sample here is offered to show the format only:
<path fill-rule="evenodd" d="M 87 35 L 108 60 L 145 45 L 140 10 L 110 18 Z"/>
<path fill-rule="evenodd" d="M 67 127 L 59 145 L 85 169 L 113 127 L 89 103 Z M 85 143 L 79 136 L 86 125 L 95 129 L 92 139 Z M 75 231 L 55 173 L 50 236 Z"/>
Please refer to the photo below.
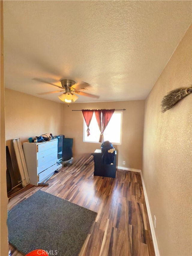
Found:
<path fill-rule="evenodd" d="M 122 136 L 122 111 L 115 111 L 111 117 L 105 131 L 104 140 L 109 140 L 112 144 L 121 144 Z M 89 125 L 90 135 L 87 136 L 87 125 L 84 120 L 83 126 L 83 141 L 84 142 L 97 142 L 99 141 L 100 131 L 95 117 L 95 112 Z"/>

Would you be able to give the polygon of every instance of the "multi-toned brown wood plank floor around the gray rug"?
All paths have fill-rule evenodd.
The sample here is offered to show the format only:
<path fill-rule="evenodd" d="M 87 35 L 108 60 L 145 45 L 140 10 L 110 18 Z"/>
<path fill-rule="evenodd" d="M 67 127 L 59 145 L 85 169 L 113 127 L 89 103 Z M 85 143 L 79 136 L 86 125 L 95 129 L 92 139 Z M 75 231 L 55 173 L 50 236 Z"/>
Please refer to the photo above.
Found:
<path fill-rule="evenodd" d="M 140 173 L 117 170 L 113 179 L 93 172 L 93 156 L 83 156 L 52 176 L 49 186 L 29 186 L 12 197 L 8 209 L 41 189 L 98 212 L 79 255 L 155 255 Z"/>

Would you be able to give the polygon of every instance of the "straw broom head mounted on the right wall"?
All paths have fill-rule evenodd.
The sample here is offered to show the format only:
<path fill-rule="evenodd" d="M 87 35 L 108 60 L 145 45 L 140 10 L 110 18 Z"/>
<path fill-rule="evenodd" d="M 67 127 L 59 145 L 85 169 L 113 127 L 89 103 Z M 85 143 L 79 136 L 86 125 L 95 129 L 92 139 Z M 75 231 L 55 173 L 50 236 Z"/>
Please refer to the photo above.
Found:
<path fill-rule="evenodd" d="M 161 112 L 164 113 L 172 108 L 178 101 L 192 92 L 192 87 L 175 89 L 164 96 L 161 101 Z"/>

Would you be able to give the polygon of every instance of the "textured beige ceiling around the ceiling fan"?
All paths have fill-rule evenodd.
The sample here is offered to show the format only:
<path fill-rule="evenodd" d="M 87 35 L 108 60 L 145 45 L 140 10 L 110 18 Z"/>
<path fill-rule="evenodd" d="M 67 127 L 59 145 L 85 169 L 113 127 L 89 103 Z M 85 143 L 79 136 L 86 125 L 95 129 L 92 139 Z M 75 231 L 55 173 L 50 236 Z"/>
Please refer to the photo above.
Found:
<path fill-rule="evenodd" d="M 4 1 L 5 87 L 52 101 L 63 78 L 145 99 L 191 23 L 191 1 Z"/>

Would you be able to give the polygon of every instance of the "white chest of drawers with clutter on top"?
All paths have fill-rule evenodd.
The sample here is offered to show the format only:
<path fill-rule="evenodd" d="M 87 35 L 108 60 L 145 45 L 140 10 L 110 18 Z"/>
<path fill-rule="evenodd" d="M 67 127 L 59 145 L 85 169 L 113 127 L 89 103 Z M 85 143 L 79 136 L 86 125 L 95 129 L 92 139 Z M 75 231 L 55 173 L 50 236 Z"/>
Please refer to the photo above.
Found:
<path fill-rule="evenodd" d="M 30 184 L 38 185 L 57 170 L 57 151 L 57 139 L 40 143 L 23 143 Z"/>

